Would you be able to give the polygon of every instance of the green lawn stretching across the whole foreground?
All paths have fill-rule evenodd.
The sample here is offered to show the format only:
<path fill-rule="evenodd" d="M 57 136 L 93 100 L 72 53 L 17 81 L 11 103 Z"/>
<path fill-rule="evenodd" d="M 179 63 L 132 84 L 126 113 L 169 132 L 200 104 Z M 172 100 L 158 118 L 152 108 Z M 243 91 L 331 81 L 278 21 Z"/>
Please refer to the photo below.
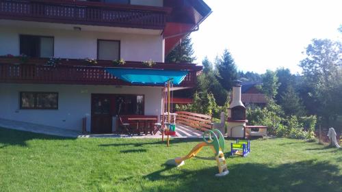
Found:
<path fill-rule="evenodd" d="M 200 140 L 67 139 L 0 128 L 0 191 L 342 191 L 342 150 L 294 139 L 259 139 L 246 158 L 218 168 L 209 148 L 183 167 Z M 231 141 L 226 141 L 226 144 Z"/>

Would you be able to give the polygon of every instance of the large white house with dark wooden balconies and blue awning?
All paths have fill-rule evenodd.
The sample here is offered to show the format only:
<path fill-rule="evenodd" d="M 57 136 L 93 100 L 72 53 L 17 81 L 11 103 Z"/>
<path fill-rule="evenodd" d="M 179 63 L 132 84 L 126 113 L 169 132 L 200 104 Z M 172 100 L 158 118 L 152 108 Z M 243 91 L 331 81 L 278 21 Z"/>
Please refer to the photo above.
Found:
<path fill-rule="evenodd" d="M 202 0 L 0 0 L 0 119 L 111 133 L 116 115 L 159 117 L 164 81 L 194 87 L 202 70 L 164 57 L 210 13 Z"/>

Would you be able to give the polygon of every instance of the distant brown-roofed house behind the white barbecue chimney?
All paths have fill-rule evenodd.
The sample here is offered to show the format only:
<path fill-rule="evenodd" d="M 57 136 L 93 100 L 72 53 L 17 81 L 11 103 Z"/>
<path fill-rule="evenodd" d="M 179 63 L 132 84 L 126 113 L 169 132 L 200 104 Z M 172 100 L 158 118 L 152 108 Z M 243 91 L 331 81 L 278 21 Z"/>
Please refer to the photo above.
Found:
<path fill-rule="evenodd" d="M 259 106 L 265 107 L 267 100 L 265 95 L 258 90 L 257 86 L 261 83 L 243 83 L 241 87 L 241 100 L 246 107 Z"/>

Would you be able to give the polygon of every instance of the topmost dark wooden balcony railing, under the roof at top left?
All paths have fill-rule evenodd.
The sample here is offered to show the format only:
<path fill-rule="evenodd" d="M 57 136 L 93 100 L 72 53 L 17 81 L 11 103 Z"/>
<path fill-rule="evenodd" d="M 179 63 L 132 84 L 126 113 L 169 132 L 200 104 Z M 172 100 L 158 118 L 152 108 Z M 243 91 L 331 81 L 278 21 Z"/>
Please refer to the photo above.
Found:
<path fill-rule="evenodd" d="M 67 0 L 0 0 L 0 18 L 49 23 L 163 29 L 169 8 Z"/>

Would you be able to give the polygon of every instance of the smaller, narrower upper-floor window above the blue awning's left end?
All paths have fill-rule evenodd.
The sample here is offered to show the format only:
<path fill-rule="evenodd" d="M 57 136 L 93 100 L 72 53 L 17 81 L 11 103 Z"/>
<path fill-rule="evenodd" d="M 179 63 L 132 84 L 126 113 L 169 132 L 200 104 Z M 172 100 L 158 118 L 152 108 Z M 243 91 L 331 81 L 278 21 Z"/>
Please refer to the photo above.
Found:
<path fill-rule="evenodd" d="M 97 59 L 99 60 L 120 59 L 120 41 L 97 40 Z"/>

